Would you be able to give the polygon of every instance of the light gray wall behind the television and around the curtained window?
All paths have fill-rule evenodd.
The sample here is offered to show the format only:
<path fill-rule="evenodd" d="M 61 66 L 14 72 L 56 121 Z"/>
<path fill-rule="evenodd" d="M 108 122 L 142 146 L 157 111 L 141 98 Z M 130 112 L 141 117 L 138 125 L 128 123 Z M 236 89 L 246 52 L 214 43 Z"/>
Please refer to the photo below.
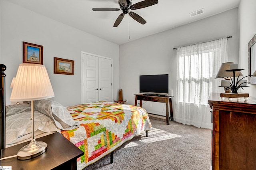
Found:
<path fill-rule="evenodd" d="M 229 61 L 238 63 L 238 8 L 120 45 L 120 88 L 123 99 L 134 105 L 134 94 L 139 93 L 139 75 L 169 74 L 169 89 L 173 89 L 175 107 L 177 67 L 173 47 L 227 36 L 232 36 L 228 39 Z M 150 102 L 143 105 L 148 113 L 165 115 L 164 103 L 151 104 L 152 107 Z"/>

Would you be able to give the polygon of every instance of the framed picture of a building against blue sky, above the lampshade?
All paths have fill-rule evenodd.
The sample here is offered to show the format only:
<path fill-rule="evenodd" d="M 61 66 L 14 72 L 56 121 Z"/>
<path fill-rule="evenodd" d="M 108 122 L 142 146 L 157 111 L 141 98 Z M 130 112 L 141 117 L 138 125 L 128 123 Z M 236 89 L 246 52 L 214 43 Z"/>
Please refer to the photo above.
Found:
<path fill-rule="evenodd" d="M 43 46 L 23 42 L 23 63 L 43 64 Z"/>

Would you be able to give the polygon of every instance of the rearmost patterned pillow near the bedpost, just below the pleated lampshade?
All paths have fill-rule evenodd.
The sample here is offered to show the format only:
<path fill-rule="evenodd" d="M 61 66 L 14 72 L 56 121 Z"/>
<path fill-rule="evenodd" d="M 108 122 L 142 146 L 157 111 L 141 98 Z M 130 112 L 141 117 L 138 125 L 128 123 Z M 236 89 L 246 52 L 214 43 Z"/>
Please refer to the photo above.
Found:
<path fill-rule="evenodd" d="M 22 112 L 29 112 L 31 111 L 31 105 L 29 104 L 16 104 L 16 105 L 10 105 L 6 106 L 5 113 L 6 117 L 22 113 Z"/>

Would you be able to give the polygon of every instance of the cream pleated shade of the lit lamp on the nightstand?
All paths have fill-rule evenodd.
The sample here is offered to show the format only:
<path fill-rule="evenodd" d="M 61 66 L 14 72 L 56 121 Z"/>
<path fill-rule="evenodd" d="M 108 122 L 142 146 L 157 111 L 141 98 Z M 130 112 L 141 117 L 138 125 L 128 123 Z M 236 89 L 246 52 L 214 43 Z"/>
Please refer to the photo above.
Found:
<path fill-rule="evenodd" d="M 34 101 L 54 97 L 46 67 L 22 63 L 18 67 L 10 101 Z"/>

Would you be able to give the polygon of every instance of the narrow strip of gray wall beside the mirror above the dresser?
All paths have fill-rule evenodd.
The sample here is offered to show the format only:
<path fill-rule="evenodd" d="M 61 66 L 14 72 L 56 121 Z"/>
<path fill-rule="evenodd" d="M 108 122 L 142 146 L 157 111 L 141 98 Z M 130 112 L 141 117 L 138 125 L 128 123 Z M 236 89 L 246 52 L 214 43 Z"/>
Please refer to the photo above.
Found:
<path fill-rule="evenodd" d="M 240 65 L 248 75 L 248 42 L 256 34 L 256 0 L 241 0 L 239 5 Z M 256 85 L 245 87 L 243 93 L 256 97 Z"/>

